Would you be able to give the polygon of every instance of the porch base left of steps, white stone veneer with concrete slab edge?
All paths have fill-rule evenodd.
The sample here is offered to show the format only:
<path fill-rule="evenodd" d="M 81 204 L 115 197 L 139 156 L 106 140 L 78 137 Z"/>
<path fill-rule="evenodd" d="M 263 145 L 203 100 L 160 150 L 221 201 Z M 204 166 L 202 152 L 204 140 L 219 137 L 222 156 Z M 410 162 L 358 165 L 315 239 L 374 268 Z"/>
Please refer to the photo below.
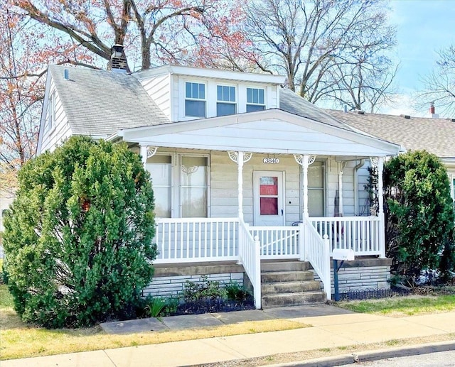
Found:
<path fill-rule="evenodd" d="M 144 297 L 177 297 L 185 289 L 187 280 L 195 283 L 202 282 L 203 275 L 207 280 L 218 281 L 220 283 L 236 282 L 244 284 L 244 273 L 242 265 L 223 264 L 219 265 L 169 265 L 167 267 L 156 265 L 154 278 L 151 283 L 144 288 Z"/>

